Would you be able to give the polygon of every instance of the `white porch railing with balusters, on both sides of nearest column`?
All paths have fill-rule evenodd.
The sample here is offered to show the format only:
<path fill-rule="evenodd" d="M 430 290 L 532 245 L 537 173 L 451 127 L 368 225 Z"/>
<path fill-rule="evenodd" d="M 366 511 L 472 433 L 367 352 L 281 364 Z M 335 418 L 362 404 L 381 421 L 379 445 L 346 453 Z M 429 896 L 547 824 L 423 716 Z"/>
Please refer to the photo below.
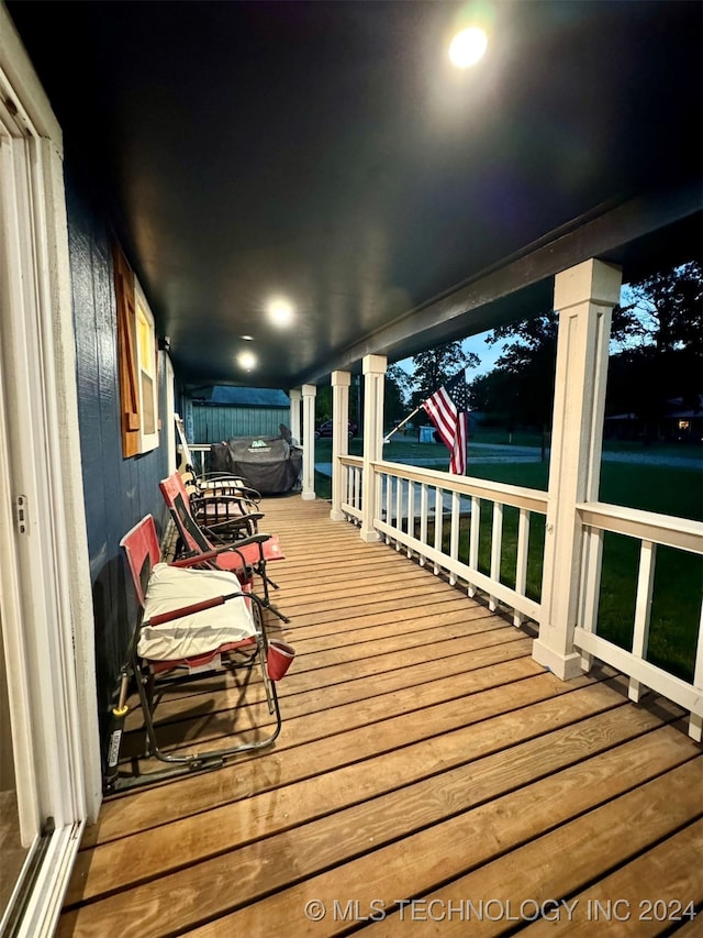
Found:
<path fill-rule="evenodd" d="M 360 523 L 362 460 L 341 459 L 346 475 L 342 510 L 348 520 Z M 545 516 L 547 493 L 486 482 L 465 476 L 451 476 L 398 463 L 371 463 L 380 492 L 373 510 L 373 527 L 397 550 L 405 549 L 421 564 L 432 563 L 435 573 L 445 570 L 450 582 L 461 581 L 469 596 L 481 591 L 489 597 L 492 609 L 502 603 L 513 611 L 516 626 L 527 617 L 540 622 L 542 606 L 526 595 L 529 519 L 532 514 Z M 479 571 L 479 539 L 481 508 L 493 506 L 490 533 L 490 571 Z M 500 580 L 503 548 L 504 506 L 518 510 L 517 559 L 515 586 Z M 667 545 L 703 554 L 703 525 L 667 515 L 656 515 L 621 506 L 585 503 L 577 506 L 584 539 L 583 565 L 580 577 L 579 618 L 576 647 L 582 654 L 584 670 L 591 659 L 617 667 L 629 677 L 629 696 L 638 700 L 643 687 L 662 694 L 691 714 L 689 732 L 701 740 L 703 727 L 703 608 L 699 625 L 698 652 L 692 682 L 687 682 L 647 661 L 649 617 L 651 609 L 657 545 Z M 440 523 L 436 523 L 437 519 Z M 623 649 L 596 634 L 598 605 L 601 592 L 603 532 L 626 534 L 640 542 L 640 564 L 632 649 Z M 461 537 L 464 533 L 464 537 Z M 465 545 L 460 555 L 460 545 Z M 700 588 L 700 584 L 692 584 Z"/>

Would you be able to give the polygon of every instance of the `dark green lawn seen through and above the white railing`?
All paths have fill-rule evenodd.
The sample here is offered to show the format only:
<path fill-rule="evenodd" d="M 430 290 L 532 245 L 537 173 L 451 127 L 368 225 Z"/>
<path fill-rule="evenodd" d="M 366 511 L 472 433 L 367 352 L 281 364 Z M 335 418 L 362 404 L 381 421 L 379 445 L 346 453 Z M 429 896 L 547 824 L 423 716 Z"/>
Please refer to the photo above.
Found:
<path fill-rule="evenodd" d="M 486 441 L 488 442 L 488 441 Z M 534 440 L 533 440 L 534 442 Z M 515 440 L 516 445 L 526 441 Z M 613 449 L 627 452 L 634 444 L 617 444 Z M 331 460 L 330 441 L 317 441 L 317 461 Z M 360 455 L 361 441 L 353 440 L 353 454 Z M 654 451 L 650 450 L 650 452 Z M 637 453 L 643 452 L 637 445 Z M 676 445 L 657 449 L 660 453 L 692 454 L 692 448 Z M 327 455 L 330 453 L 330 455 Z M 469 444 L 469 474 L 478 478 L 502 482 L 527 488 L 547 489 L 548 462 L 475 462 L 471 463 Z M 442 444 L 393 440 L 383 448 L 387 460 L 437 459 L 446 460 Z M 330 497 L 330 479 L 316 474 L 320 497 Z M 703 520 L 703 476 L 698 470 L 672 468 L 638 462 L 603 462 L 601 467 L 600 500 L 629 508 L 641 508 L 662 515 Z M 490 541 L 492 506 L 481 510 L 479 538 L 479 570 L 490 569 Z M 431 526 L 432 527 L 432 526 Z M 443 531 L 448 550 L 448 526 Z M 431 530 L 429 538 L 434 537 Z M 501 582 L 513 586 L 517 550 L 517 509 L 506 507 L 503 515 L 503 549 Z M 542 591 L 542 561 L 544 552 L 544 519 L 531 519 L 529 558 L 527 566 L 527 595 L 539 599 Z M 468 521 L 464 525 L 460 556 L 468 556 Z M 622 648 L 632 647 L 635 613 L 635 593 L 639 563 L 639 542 L 621 534 L 606 533 L 603 545 L 603 574 L 599 604 L 599 634 Z M 693 676 L 699 632 L 701 591 L 703 587 L 703 558 L 659 548 L 655 576 L 648 660 L 690 681 Z"/>

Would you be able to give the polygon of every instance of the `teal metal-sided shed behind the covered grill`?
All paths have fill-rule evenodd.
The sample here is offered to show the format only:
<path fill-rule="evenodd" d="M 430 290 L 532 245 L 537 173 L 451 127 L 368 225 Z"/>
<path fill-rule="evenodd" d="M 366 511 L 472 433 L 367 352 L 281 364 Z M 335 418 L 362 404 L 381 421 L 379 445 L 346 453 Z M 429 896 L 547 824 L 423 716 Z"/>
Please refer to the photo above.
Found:
<path fill-rule="evenodd" d="M 198 388 L 191 393 L 191 402 L 194 443 L 219 443 L 232 437 L 276 437 L 281 423 L 290 423 L 290 399 L 276 388 Z"/>

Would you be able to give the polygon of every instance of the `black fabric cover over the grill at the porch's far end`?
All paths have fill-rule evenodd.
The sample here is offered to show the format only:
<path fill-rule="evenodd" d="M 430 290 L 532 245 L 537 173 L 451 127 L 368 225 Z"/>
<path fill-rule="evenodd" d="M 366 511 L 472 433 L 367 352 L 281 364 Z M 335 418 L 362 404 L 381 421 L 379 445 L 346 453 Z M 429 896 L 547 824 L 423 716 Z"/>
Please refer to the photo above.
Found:
<path fill-rule="evenodd" d="M 281 437 L 238 437 L 210 446 L 210 471 L 244 476 L 261 495 L 290 492 L 300 477 L 303 454 Z"/>

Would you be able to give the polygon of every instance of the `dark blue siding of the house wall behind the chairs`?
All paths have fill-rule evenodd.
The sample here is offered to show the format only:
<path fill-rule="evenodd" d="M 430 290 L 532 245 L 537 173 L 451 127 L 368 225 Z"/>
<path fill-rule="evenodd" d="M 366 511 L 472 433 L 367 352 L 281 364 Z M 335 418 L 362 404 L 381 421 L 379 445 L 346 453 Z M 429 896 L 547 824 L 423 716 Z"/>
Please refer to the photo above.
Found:
<path fill-rule="evenodd" d="M 78 418 L 96 620 L 98 709 L 104 740 L 120 670 L 129 653 L 134 600 L 120 549 L 122 536 L 147 512 L 159 530 L 166 509 L 158 481 L 168 474 L 166 434 L 143 456 L 122 457 L 116 306 L 109 229 L 70 173 L 68 241 L 76 331 Z M 164 419 L 164 369 L 159 416 Z"/>

